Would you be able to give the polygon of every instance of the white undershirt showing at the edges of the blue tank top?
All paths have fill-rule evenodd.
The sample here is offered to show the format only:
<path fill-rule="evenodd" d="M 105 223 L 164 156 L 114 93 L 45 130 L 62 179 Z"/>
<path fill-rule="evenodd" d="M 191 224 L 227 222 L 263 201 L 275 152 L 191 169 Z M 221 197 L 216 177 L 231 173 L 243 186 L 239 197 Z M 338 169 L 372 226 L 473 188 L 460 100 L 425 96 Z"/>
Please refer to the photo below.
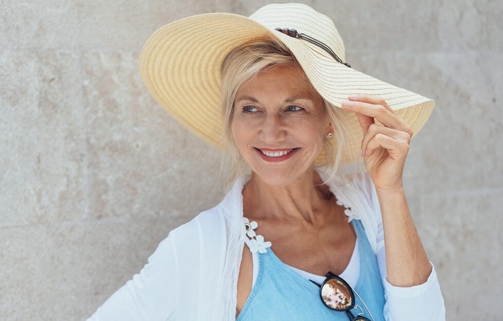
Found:
<path fill-rule="evenodd" d="M 252 289 L 255 286 L 255 280 L 259 274 L 259 258 L 257 252 L 252 253 L 252 261 L 253 261 L 253 281 L 252 281 Z M 300 276 L 305 279 L 313 280 L 318 284 L 323 283 L 326 277 L 321 275 L 315 275 L 297 268 L 289 266 L 293 271 L 297 272 Z M 327 271 L 328 272 L 328 271 Z M 339 277 L 343 278 L 352 286 L 356 287 L 356 283 L 358 283 L 358 278 L 360 277 L 360 252 L 358 251 L 358 239 L 356 238 L 356 242 L 354 244 L 353 254 L 351 255 L 351 259 L 349 260 L 348 266 L 343 273 L 339 274 Z"/>

